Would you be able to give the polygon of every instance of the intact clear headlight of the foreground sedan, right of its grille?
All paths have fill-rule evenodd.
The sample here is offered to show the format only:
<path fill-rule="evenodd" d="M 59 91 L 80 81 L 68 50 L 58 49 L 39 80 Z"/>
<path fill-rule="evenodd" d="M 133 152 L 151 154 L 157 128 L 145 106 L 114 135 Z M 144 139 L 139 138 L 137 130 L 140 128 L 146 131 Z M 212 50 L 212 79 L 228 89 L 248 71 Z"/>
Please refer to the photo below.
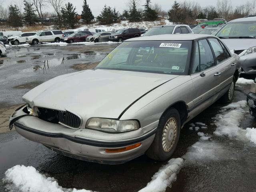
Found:
<path fill-rule="evenodd" d="M 136 120 L 90 118 L 86 122 L 86 128 L 104 132 L 127 132 L 137 130 L 140 124 Z"/>

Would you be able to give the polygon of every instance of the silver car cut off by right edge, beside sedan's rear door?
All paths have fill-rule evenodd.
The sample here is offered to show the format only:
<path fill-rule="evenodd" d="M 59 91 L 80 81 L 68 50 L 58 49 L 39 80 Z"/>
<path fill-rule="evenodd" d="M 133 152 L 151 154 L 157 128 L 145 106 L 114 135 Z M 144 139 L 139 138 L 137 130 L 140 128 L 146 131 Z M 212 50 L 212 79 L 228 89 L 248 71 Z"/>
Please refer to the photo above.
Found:
<path fill-rule="evenodd" d="M 256 17 L 228 22 L 216 34 L 240 57 L 242 73 L 256 74 Z"/>

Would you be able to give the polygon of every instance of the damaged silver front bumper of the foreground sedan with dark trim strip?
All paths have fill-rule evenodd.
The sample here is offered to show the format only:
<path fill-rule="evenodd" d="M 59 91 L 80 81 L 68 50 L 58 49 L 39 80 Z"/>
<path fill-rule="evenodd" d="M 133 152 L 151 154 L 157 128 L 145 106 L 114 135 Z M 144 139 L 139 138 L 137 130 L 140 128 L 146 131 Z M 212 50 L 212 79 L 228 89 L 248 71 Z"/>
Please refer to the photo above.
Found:
<path fill-rule="evenodd" d="M 26 114 L 23 108 L 16 111 L 12 118 Z M 154 140 L 157 123 L 132 132 L 110 134 L 84 128 L 74 130 L 40 120 L 35 116 L 24 116 L 14 122 L 14 127 L 25 138 L 41 143 L 65 156 L 102 164 L 122 164 L 146 152 Z M 147 132 L 143 132 L 145 130 Z M 97 134 L 100 139 L 95 138 Z M 105 149 L 123 148 L 137 143 L 141 145 L 128 151 L 115 153 L 105 151 Z"/>

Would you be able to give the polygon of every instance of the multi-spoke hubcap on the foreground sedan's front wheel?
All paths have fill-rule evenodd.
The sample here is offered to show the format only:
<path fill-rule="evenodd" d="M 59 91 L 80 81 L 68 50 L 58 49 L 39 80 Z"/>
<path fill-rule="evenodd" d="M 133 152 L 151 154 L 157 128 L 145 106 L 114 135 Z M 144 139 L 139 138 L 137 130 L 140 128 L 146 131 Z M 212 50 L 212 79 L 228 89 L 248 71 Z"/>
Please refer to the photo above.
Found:
<path fill-rule="evenodd" d="M 164 126 L 162 147 L 164 152 L 170 152 L 177 138 L 177 121 L 171 117 Z"/>

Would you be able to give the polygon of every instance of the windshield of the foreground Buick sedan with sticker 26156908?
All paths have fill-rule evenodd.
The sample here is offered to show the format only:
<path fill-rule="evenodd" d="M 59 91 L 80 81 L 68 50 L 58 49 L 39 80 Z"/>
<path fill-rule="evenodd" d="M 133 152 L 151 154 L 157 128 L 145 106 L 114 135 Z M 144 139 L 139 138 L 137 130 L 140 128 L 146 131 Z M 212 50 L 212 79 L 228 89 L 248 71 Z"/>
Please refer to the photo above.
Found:
<path fill-rule="evenodd" d="M 123 42 L 96 68 L 187 75 L 192 41 Z"/>

